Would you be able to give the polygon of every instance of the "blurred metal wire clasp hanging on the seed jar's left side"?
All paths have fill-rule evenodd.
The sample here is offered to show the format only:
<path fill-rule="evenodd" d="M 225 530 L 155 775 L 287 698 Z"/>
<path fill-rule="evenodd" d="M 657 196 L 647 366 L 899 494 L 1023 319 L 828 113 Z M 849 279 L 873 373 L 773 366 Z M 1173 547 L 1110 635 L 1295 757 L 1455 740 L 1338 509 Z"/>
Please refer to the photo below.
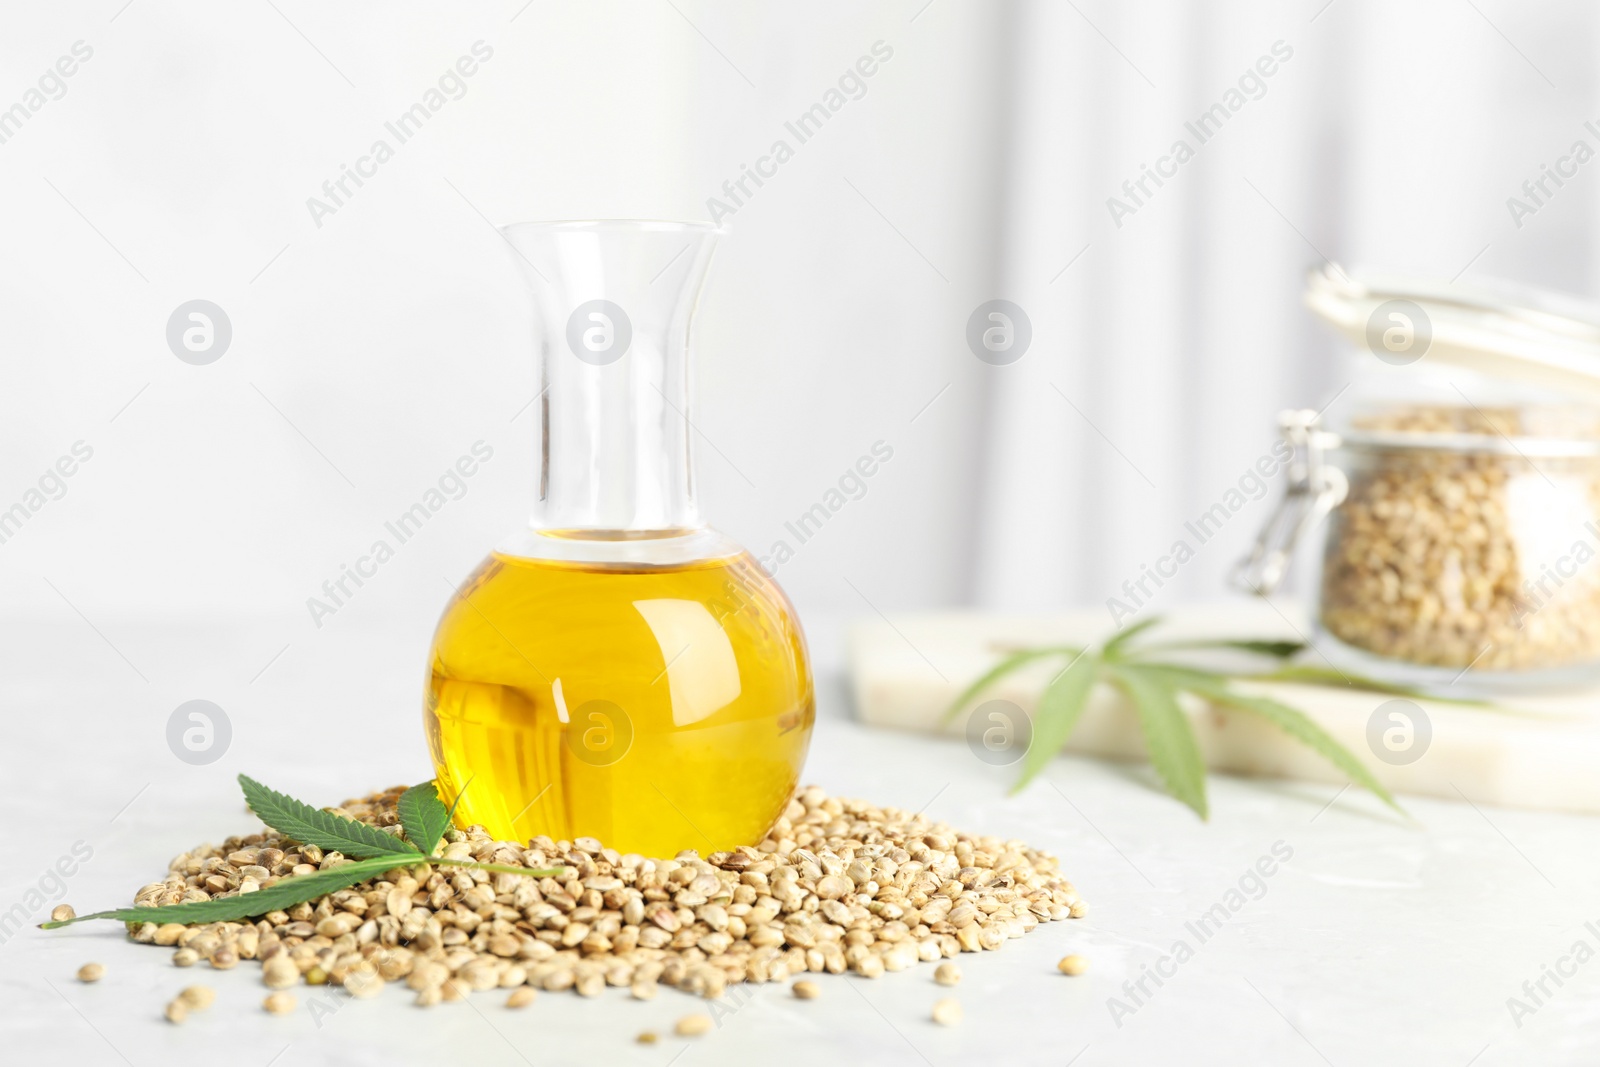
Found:
<path fill-rule="evenodd" d="M 1339 435 L 1320 427 L 1317 411 L 1283 411 L 1278 414 L 1278 430 L 1293 450 L 1285 467 L 1288 488 L 1261 528 L 1250 555 L 1229 574 L 1235 589 L 1258 597 L 1269 597 L 1277 590 L 1288 574 L 1301 536 L 1344 502 L 1344 494 L 1350 490 L 1344 472 L 1326 462 L 1326 453 L 1339 446 Z"/>

